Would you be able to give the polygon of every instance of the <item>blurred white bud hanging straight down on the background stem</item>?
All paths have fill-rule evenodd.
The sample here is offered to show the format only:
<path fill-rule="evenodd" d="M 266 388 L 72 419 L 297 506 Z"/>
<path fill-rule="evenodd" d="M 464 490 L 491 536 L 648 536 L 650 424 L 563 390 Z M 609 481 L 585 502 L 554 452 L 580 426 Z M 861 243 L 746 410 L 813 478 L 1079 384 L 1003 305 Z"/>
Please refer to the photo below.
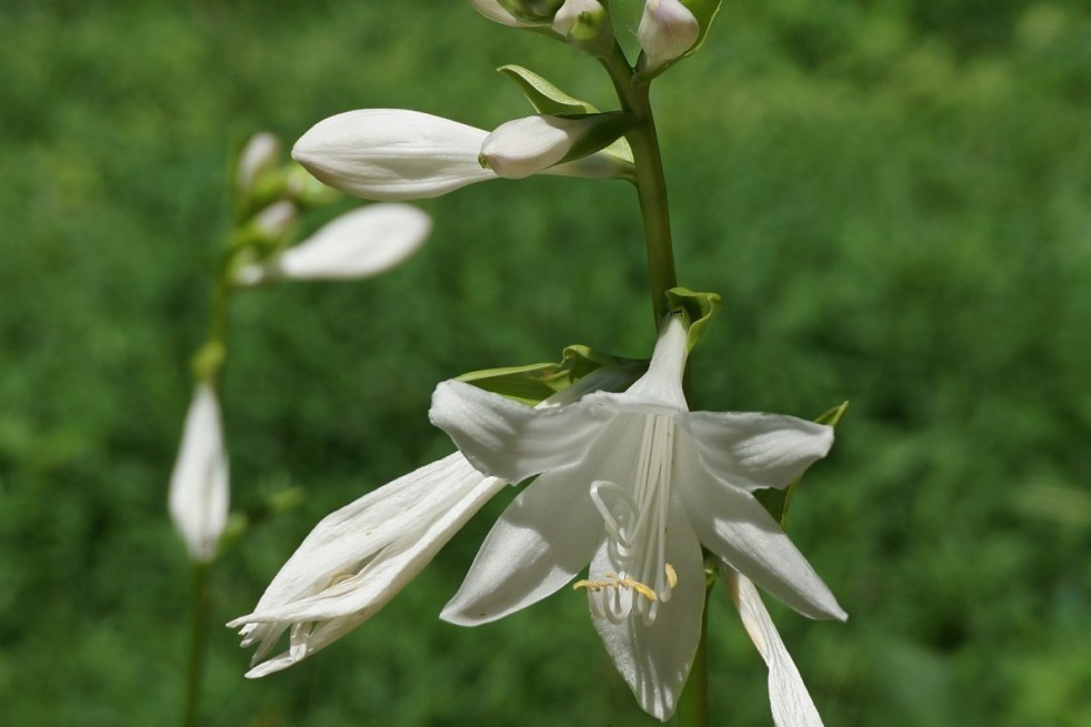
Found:
<path fill-rule="evenodd" d="M 200 383 L 186 414 L 168 495 L 171 519 L 193 561 L 208 563 L 216 556 L 228 522 L 228 498 L 220 405 L 212 387 Z"/>

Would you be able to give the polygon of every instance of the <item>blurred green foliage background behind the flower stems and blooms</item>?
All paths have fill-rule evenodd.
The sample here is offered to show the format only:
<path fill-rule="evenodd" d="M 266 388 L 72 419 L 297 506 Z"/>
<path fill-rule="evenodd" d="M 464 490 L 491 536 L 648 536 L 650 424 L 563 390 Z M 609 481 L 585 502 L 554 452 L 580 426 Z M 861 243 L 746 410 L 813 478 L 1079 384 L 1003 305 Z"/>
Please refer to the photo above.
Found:
<path fill-rule="evenodd" d="M 492 71 L 507 62 L 610 107 L 591 61 L 467 2 L 4 0 L 4 724 L 180 714 L 189 566 L 166 491 L 232 150 L 364 107 L 493 128 L 529 111 Z M 725 0 L 657 85 L 680 280 L 724 297 L 695 404 L 852 402 L 789 523 L 851 618 L 772 605 L 827 724 L 1091 725 L 1088 6 Z M 234 506 L 307 497 L 218 564 L 214 624 L 323 514 L 451 451 L 426 416 L 438 381 L 575 342 L 650 351 L 623 183 L 497 181 L 422 206 L 433 238 L 390 274 L 236 301 Z M 213 626 L 204 723 L 650 724 L 578 595 L 437 619 L 503 505 L 286 673 L 244 680 L 249 654 Z M 725 594 L 710 614 L 717 724 L 769 725 Z"/>

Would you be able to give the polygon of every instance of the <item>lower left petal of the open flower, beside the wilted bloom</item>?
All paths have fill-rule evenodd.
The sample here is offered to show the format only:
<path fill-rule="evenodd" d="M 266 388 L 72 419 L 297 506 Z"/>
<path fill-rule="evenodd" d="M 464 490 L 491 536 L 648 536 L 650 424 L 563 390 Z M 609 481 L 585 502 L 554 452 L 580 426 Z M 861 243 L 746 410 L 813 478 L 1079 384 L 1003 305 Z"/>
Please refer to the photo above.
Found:
<path fill-rule="evenodd" d="M 542 475 L 493 525 L 440 618 L 476 626 L 538 603 L 587 567 L 602 539 L 590 496 L 598 463 Z"/>

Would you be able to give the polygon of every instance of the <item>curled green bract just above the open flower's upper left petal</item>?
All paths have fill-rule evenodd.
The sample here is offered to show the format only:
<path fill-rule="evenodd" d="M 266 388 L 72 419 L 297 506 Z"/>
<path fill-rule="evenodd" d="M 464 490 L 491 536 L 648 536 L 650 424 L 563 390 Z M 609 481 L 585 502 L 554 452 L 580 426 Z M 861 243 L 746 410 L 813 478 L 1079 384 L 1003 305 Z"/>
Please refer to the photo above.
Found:
<path fill-rule="evenodd" d="M 619 390 L 639 378 L 648 368 L 648 362 L 612 356 L 583 345 L 571 345 L 561 353 L 560 363 L 471 371 L 458 376 L 457 381 L 533 406 L 564 391 L 588 374 L 607 367 L 617 372 L 617 377 L 609 380 L 609 388 Z"/>

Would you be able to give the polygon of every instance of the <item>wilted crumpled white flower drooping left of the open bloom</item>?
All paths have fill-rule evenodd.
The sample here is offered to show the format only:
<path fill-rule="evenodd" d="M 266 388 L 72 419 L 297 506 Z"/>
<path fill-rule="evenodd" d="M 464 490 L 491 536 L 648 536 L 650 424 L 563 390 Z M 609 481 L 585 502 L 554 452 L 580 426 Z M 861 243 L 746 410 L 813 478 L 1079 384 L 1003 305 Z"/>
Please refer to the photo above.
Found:
<path fill-rule="evenodd" d="M 228 624 L 257 645 L 247 676 L 289 667 L 373 616 L 504 484 L 456 453 L 328 515 L 253 613 Z M 259 664 L 288 629 L 289 649 Z"/>

